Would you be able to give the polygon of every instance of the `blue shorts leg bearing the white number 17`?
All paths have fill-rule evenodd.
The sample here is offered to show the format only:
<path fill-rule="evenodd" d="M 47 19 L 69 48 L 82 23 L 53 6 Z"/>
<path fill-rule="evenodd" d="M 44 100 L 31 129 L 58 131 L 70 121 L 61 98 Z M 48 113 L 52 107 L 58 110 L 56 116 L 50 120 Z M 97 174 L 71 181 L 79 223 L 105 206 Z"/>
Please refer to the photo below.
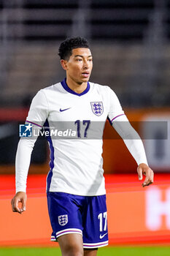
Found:
<path fill-rule="evenodd" d="M 106 195 L 87 197 L 83 214 L 84 249 L 96 249 L 108 244 Z M 90 255 L 90 253 L 89 253 Z"/>

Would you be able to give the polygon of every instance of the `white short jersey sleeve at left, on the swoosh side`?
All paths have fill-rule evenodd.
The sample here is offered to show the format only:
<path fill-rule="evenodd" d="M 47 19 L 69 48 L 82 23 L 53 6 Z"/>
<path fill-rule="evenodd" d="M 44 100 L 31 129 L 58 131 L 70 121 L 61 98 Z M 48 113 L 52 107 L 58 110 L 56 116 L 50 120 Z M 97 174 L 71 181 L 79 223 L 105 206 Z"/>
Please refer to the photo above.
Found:
<path fill-rule="evenodd" d="M 49 113 L 47 97 L 44 91 L 40 90 L 33 98 L 26 121 L 43 126 Z"/>

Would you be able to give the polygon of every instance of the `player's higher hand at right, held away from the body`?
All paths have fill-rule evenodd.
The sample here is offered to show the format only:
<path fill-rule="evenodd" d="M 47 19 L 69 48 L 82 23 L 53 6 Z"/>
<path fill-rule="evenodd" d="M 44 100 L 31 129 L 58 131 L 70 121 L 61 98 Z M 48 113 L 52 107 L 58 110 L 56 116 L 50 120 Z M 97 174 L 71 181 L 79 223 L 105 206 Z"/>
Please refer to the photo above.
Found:
<path fill-rule="evenodd" d="M 150 167 L 147 166 L 146 164 L 140 164 L 137 167 L 137 173 L 138 173 L 139 181 L 142 181 L 143 174 L 146 176 L 146 178 L 144 179 L 144 182 L 142 183 L 142 187 L 149 186 L 150 184 L 153 183 L 154 173 L 152 169 L 150 169 Z"/>

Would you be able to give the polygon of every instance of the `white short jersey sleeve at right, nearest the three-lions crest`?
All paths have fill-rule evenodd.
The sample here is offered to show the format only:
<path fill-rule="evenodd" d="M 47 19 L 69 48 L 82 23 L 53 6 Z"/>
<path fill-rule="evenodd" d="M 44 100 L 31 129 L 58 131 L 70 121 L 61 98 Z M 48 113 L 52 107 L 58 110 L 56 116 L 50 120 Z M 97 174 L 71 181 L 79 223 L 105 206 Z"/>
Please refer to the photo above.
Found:
<path fill-rule="evenodd" d="M 120 105 L 119 99 L 117 98 L 117 95 L 115 94 L 112 89 L 109 88 L 109 113 L 108 113 L 108 118 L 109 121 L 114 121 L 117 117 L 123 116 L 124 111 Z"/>

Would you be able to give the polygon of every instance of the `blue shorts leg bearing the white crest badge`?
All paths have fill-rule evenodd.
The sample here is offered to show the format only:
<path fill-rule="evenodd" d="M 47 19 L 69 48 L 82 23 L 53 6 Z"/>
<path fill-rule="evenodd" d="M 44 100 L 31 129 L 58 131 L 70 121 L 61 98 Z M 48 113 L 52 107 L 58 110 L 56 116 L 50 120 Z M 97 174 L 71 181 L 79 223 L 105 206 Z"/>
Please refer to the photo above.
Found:
<path fill-rule="evenodd" d="M 51 241 L 66 234 L 82 236 L 82 217 L 74 196 L 63 192 L 47 193 L 47 205 L 53 233 Z"/>

